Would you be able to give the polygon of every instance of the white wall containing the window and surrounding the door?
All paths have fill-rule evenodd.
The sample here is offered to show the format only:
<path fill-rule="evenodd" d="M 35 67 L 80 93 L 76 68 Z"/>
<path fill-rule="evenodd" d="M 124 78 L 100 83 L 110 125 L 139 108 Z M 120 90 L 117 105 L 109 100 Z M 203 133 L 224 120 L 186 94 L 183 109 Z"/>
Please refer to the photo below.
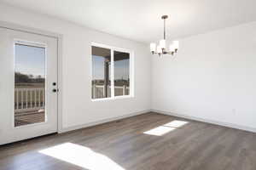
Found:
<path fill-rule="evenodd" d="M 148 46 L 73 23 L 32 14 L 0 4 L 0 20 L 63 35 L 62 126 L 78 127 L 150 109 L 150 59 Z M 93 19 L 91 19 L 93 20 Z M 126 48 L 135 54 L 135 97 L 92 102 L 90 89 L 90 42 Z"/>

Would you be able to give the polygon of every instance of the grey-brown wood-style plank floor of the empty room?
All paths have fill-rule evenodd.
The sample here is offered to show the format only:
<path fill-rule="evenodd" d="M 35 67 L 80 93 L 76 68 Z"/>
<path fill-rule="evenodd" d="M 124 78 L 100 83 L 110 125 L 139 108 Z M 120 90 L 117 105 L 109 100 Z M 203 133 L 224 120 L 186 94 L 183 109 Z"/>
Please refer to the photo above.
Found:
<path fill-rule="evenodd" d="M 161 136 L 144 133 L 174 120 L 188 123 Z M 158 130 L 161 132 L 161 127 Z M 66 143 L 81 148 L 73 161 L 61 161 L 38 152 Z M 83 155 L 88 149 L 90 157 Z M 61 151 L 61 156 L 74 156 L 74 153 Z M 55 150 L 52 154 L 58 153 Z M 94 163 L 93 159 L 96 159 Z M 0 146 L 0 169 L 256 170 L 256 134 L 148 113 Z"/>

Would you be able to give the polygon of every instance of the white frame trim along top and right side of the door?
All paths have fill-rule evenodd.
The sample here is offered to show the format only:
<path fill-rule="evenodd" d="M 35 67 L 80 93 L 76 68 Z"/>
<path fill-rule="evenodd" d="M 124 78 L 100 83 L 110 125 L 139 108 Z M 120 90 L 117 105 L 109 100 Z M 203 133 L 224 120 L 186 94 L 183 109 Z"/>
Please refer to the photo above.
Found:
<path fill-rule="evenodd" d="M 54 37 L 57 40 L 57 81 L 58 81 L 58 93 L 57 93 L 57 133 L 63 132 L 62 127 L 62 39 L 63 35 L 55 32 L 44 31 L 32 27 L 20 26 L 14 23 L 1 21 L 0 28 L 5 28 L 13 31 L 22 31 L 26 33 L 36 34 L 44 37 Z"/>

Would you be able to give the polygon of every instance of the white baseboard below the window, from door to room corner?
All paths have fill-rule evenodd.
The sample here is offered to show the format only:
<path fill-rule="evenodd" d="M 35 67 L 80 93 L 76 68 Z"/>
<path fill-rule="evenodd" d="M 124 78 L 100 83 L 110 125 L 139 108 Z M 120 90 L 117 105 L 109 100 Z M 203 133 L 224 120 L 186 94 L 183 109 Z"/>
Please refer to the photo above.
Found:
<path fill-rule="evenodd" d="M 131 117 L 131 116 L 142 115 L 142 114 L 148 113 L 150 111 L 151 110 L 137 111 L 137 112 L 133 112 L 133 113 L 130 113 L 130 114 L 126 114 L 124 116 L 116 116 L 116 117 L 112 117 L 112 118 L 109 118 L 109 119 L 104 119 L 104 120 L 101 120 L 101 121 L 86 123 L 86 124 L 79 125 L 79 126 L 64 127 L 61 130 L 59 130 L 58 133 L 66 133 L 68 131 L 73 131 L 73 130 L 77 130 L 77 129 L 84 128 L 84 127 L 93 127 L 93 126 L 96 126 L 96 125 L 99 125 L 99 124 L 102 124 L 102 123 L 106 123 L 106 122 L 113 122 L 113 121 L 118 121 L 120 119 L 124 119 L 124 118 L 127 118 L 127 117 Z"/>

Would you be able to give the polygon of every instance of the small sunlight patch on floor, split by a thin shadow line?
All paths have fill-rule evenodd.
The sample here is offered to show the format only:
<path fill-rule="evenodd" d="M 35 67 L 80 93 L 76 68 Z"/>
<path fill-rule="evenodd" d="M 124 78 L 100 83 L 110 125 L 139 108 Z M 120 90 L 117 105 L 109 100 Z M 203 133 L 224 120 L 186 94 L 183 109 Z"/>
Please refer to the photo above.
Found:
<path fill-rule="evenodd" d="M 162 136 L 166 133 L 170 133 L 173 130 L 177 129 L 178 127 L 183 127 L 185 124 L 187 124 L 189 122 L 185 122 L 185 121 L 172 121 L 172 122 L 168 122 L 164 125 L 161 125 L 159 127 L 155 127 L 152 128 L 148 131 L 143 132 L 144 134 L 149 134 L 149 135 L 154 135 L 154 136 Z"/>

